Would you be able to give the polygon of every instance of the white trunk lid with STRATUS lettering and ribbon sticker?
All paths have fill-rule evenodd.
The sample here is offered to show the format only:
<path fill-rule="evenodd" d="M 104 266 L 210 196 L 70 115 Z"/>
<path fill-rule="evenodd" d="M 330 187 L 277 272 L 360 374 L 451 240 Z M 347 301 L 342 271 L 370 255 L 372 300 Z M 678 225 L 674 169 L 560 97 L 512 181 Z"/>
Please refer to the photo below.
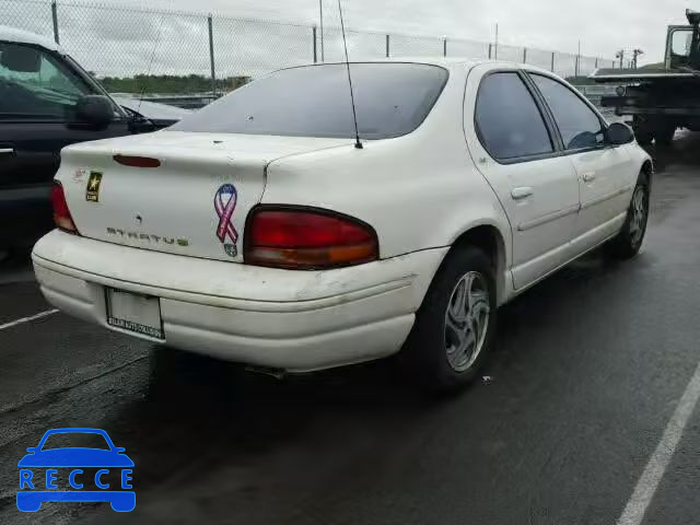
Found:
<path fill-rule="evenodd" d="M 245 221 L 262 197 L 267 165 L 348 144 L 352 141 L 161 131 L 71 147 L 62 152 L 57 178 L 85 237 L 242 262 Z M 125 165 L 142 159 L 159 165 Z"/>

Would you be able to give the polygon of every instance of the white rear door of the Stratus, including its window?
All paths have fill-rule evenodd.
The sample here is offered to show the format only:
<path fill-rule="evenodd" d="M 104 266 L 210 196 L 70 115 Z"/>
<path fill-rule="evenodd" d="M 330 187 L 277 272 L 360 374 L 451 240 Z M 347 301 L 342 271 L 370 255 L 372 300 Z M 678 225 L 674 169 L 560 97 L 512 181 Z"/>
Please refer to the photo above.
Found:
<path fill-rule="evenodd" d="M 478 66 L 465 101 L 469 150 L 510 220 L 513 281 L 521 289 L 570 259 L 576 173 L 522 72 Z"/>

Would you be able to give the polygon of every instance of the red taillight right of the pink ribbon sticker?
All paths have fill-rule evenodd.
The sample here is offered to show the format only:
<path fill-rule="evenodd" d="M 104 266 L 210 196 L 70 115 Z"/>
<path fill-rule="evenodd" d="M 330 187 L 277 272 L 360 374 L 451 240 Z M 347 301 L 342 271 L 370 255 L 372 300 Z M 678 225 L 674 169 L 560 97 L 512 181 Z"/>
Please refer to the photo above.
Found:
<path fill-rule="evenodd" d="M 361 265 L 378 258 L 374 230 L 323 210 L 260 208 L 245 232 L 245 262 L 289 269 Z"/>

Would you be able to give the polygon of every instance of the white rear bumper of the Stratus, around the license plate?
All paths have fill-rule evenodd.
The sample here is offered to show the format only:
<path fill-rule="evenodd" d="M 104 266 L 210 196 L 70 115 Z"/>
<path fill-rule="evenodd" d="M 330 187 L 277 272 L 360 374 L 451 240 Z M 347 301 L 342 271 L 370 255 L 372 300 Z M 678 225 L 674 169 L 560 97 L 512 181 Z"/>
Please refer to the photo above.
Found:
<path fill-rule="evenodd" d="M 291 271 L 147 252 L 55 231 L 37 243 L 33 261 L 47 300 L 77 317 L 108 327 L 105 287 L 152 295 L 160 298 L 165 343 L 305 372 L 397 352 L 445 252 Z"/>

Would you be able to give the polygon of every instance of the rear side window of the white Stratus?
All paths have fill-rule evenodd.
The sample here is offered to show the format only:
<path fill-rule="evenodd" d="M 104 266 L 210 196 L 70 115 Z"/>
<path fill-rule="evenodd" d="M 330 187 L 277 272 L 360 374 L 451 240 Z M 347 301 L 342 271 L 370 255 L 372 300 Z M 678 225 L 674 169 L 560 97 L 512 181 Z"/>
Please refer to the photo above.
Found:
<path fill-rule="evenodd" d="M 476 125 L 483 147 L 494 159 L 553 152 L 545 120 L 516 72 L 493 73 L 481 81 Z"/>

